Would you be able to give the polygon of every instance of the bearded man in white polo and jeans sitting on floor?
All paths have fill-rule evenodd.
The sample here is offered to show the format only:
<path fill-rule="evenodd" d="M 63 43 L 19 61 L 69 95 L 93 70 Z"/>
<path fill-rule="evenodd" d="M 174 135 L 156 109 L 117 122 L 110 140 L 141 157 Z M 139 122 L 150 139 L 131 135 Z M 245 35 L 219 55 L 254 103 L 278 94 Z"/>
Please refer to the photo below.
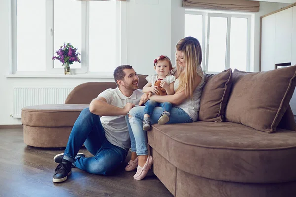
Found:
<path fill-rule="evenodd" d="M 138 90 L 139 78 L 130 65 L 118 66 L 114 71 L 117 84 L 93 99 L 76 120 L 64 153 L 54 157 L 60 163 L 53 175 L 53 182 L 66 181 L 71 167 L 92 174 L 110 174 L 125 161 L 130 148 L 130 137 L 125 116 L 138 104 L 142 91 Z M 85 145 L 93 157 L 78 153 Z"/>

